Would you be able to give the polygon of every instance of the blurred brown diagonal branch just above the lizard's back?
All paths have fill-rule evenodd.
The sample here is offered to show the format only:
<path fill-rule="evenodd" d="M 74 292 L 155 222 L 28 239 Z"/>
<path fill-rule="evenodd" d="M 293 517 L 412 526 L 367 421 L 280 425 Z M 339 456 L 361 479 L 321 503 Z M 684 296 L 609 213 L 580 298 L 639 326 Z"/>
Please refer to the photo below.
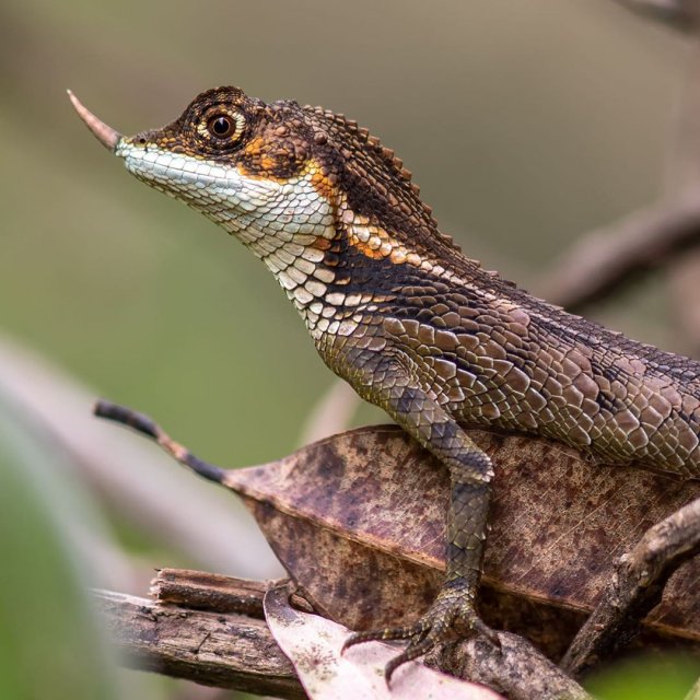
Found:
<path fill-rule="evenodd" d="M 580 310 L 700 244 L 700 189 L 637 211 L 576 242 L 537 292 Z"/>

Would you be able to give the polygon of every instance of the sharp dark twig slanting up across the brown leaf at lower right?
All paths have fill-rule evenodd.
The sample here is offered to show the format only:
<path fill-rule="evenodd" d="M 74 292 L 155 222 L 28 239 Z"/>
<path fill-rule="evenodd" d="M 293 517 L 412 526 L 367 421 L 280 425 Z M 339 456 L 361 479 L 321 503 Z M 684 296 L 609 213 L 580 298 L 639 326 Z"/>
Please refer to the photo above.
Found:
<path fill-rule="evenodd" d="M 579 676 L 632 639 L 655 607 L 670 575 L 700 553 L 700 499 L 651 527 L 620 559 L 617 573 L 561 662 Z"/>

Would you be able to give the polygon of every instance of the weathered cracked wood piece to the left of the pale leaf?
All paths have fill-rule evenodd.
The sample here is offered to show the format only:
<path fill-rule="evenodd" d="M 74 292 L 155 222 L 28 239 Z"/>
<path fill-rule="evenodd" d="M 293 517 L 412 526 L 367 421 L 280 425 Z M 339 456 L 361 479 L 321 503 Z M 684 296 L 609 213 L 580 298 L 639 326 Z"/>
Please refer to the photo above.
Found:
<path fill-rule="evenodd" d="M 182 582 L 188 573 L 176 572 L 175 579 Z M 167 576 L 167 570 L 159 578 L 163 576 Z M 249 605 L 250 597 L 261 610 L 264 586 L 250 587 L 249 582 L 243 582 L 247 586 L 236 592 L 236 583 L 242 582 L 203 573 L 194 583 L 198 592 L 191 605 L 211 604 L 213 610 L 195 609 L 185 600 L 166 605 L 110 591 L 95 593 L 112 637 L 124 653 L 124 663 L 206 686 L 290 700 L 305 698 L 292 664 L 265 621 L 234 611 L 236 599 L 247 598 Z M 166 598 L 167 591 L 166 584 Z M 218 610 L 223 600 L 226 612 Z M 243 608 L 249 609 L 246 605 Z"/>

